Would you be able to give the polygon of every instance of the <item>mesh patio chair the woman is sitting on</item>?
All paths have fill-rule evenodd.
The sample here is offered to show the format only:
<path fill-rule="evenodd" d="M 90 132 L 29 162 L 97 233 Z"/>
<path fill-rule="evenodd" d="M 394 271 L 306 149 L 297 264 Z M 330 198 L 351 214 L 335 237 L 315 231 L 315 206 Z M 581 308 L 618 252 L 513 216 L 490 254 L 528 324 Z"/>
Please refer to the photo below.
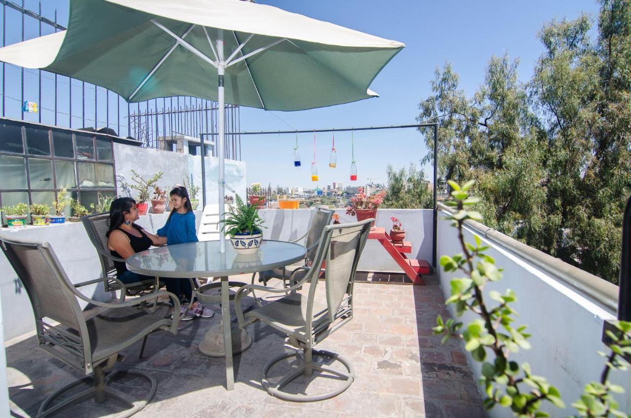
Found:
<path fill-rule="evenodd" d="M 158 290 L 160 287 L 158 278 L 155 278 L 155 280 L 143 280 L 141 282 L 128 284 L 123 284 L 121 281 L 115 280 L 116 268 L 114 266 L 114 261 L 121 261 L 121 263 L 124 263 L 125 260 L 112 256 L 109 248 L 107 248 L 107 237 L 105 236 L 105 233 L 109 229 L 108 221 L 109 213 L 97 213 L 95 215 L 88 215 L 81 218 L 81 222 L 83 222 L 83 226 L 85 227 L 88 237 L 90 237 L 90 241 L 92 242 L 94 248 L 97 249 L 98 260 L 101 262 L 101 268 L 103 271 L 103 278 L 107 278 L 107 280 L 103 280 L 105 292 L 121 290 L 121 296 L 119 299 L 124 301 L 125 296 L 136 296 L 143 292 Z"/>

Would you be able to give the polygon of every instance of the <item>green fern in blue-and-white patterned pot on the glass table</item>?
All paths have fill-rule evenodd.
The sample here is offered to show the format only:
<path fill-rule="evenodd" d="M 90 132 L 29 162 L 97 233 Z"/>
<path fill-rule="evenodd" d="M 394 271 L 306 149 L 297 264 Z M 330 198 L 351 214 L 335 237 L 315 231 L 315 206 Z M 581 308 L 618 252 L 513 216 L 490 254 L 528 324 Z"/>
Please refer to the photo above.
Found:
<path fill-rule="evenodd" d="M 256 206 L 245 205 L 239 194 L 235 196 L 235 200 L 237 205 L 231 205 L 228 212 L 223 214 L 227 218 L 223 220 L 221 232 L 230 235 L 232 248 L 237 254 L 254 254 L 261 246 L 261 227 L 265 221 L 259 216 Z"/>

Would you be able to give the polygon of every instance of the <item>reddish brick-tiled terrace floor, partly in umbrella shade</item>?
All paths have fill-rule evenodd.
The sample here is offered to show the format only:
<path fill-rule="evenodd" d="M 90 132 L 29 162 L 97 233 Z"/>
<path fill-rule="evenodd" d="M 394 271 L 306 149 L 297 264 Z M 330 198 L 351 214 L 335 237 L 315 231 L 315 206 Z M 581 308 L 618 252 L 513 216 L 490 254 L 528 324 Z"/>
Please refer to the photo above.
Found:
<path fill-rule="evenodd" d="M 198 350 L 206 330 L 219 321 L 216 314 L 180 323 L 177 335 L 151 334 L 143 360 L 138 360 L 140 343 L 121 353 L 124 360 L 117 367 L 142 369 L 158 381 L 153 401 L 134 417 L 484 416 L 461 344 L 452 340 L 440 345 L 440 338 L 432 335 L 436 316 L 449 313 L 437 280 L 425 280 L 427 286 L 355 284 L 353 321 L 317 347 L 343 355 L 355 367 L 355 382 L 338 397 L 292 403 L 268 395 L 261 386 L 262 366 L 290 349 L 283 347 L 279 333 L 259 323 L 247 328 L 254 343 L 235 356 L 235 390 L 226 391 L 223 358 Z M 6 353 L 9 396 L 17 417 L 35 416 L 47 395 L 81 377 L 37 349 L 34 337 L 9 345 Z M 127 392 L 148 388 L 140 380 L 123 384 Z M 317 390 L 316 385 L 309 389 Z M 102 417 L 115 411 L 112 406 L 112 401 L 97 406 L 86 400 L 58 416 Z"/>

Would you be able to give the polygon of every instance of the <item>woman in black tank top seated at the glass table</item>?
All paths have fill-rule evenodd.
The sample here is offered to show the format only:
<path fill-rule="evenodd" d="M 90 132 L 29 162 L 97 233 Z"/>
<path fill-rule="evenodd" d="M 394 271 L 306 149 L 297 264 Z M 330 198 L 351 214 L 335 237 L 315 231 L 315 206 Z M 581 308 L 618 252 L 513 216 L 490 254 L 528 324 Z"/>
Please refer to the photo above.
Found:
<path fill-rule="evenodd" d="M 107 248 L 112 256 L 127 259 L 135 253 L 149 249 L 152 245 L 158 246 L 167 243 L 166 237 L 159 237 L 146 232 L 141 226 L 134 224 L 138 220 L 138 208 L 136 201 L 132 198 L 117 198 L 110 206 L 109 230 L 107 231 Z M 127 270 L 127 265 L 122 261 L 114 261 L 116 276 L 124 284 L 142 282 L 143 280 L 153 280 L 153 277 L 141 275 Z M 180 278 L 165 278 L 168 292 L 177 296 L 180 300 L 180 314 L 186 313 L 182 321 L 195 318 L 197 315 L 192 311 L 196 308 L 196 302 L 191 305 L 191 310 L 187 309 L 184 297 L 191 296 L 191 284 L 189 280 Z"/>

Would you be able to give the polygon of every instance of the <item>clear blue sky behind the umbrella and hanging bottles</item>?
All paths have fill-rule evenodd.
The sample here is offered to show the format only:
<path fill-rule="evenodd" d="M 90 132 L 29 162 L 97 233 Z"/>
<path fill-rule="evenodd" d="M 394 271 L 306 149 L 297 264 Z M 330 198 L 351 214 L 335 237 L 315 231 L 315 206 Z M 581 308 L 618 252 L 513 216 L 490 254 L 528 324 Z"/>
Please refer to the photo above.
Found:
<path fill-rule="evenodd" d="M 379 98 L 302 112 L 242 108 L 242 131 L 415 123 L 418 103 L 430 94 L 429 81 L 433 79 L 435 69 L 446 61 L 453 64 L 460 75 L 461 87 L 469 95 L 483 82 L 488 60 L 493 54 L 501 56 L 508 52 L 510 57 L 519 57 L 519 76 L 525 81 L 531 76 L 534 63 L 543 51 L 537 33 L 544 23 L 554 18 L 576 18 L 582 12 L 591 14 L 594 19 L 598 15 L 595 0 L 258 0 L 257 3 L 398 40 L 406 44 L 406 48 L 392 59 L 371 85 L 370 88 L 380 94 Z M 35 0 L 26 0 L 25 4 L 33 10 L 38 8 Z M 52 18 L 57 8 L 59 21 L 65 24 L 67 4 L 67 0 L 45 0 L 42 2 L 42 13 Z M 19 26 L 20 22 L 9 18 L 7 32 L 19 33 L 11 30 L 15 25 Z M 36 35 L 27 30 L 25 37 L 28 39 Z M 7 44 L 19 40 L 8 37 Z M 11 76 L 9 71 L 7 76 Z M 37 76 L 27 74 L 27 82 L 30 80 L 28 77 L 34 77 L 37 83 Z M 7 94 L 11 93 L 9 88 Z M 88 115 L 93 112 L 93 108 L 86 109 Z M 292 162 L 295 135 L 243 136 L 242 157 L 247 163 L 247 182 L 271 183 L 273 187 L 280 184 L 311 188 L 326 186 L 333 181 L 350 185 L 350 133 L 336 134 L 335 139 L 338 167 L 329 169 L 331 134 L 318 134 L 316 137 L 320 181 L 314 183 L 310 181 L 309 171 L 313 158 L 313 134 L 299 136 L 300 168 L 294 168 Z M 415 129 L 356 133 L 358 181 L 355 184 L 363 184 L 369 179 L 385 182 L 387 164 L 396 168 L 418 164 L 427 153 L 423 143 L 422 136 Z M 426 174 L 431 179 L 431 167 L 426 167 Z"/>

